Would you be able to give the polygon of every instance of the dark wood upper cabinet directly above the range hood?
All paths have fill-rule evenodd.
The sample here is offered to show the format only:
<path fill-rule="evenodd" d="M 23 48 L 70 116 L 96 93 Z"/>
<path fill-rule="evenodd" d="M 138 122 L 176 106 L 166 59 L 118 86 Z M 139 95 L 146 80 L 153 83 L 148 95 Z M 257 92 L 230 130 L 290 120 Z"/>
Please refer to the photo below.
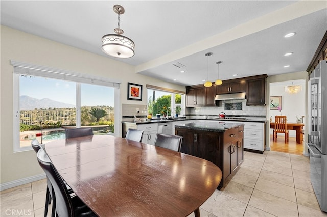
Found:
<path fill-rule="evenodd" d="M 245 79 L 224 80 L 222 85 L 217 86 L 217 94 L 241 93 L 245 91 Z"/>

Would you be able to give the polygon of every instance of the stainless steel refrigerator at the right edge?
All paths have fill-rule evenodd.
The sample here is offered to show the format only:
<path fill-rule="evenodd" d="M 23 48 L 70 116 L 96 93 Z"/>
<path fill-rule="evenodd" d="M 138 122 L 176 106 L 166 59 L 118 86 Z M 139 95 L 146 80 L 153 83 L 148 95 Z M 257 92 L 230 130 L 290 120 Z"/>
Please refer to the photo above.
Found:
<path fill-rule="evenodd" d="M 321 60 L 309 79 L 310 179 L 322 211 L 327 212 L 327 62 Z"/>

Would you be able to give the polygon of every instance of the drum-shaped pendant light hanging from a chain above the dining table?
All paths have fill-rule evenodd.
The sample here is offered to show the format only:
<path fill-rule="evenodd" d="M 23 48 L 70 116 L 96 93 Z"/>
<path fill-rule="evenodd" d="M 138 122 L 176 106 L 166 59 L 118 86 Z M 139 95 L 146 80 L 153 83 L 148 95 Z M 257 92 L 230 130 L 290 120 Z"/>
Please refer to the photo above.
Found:
<path fill-rule="evenodd" d="M 123 6 L 114 5 L 113 11 L 118 14 L 118 28 L 113 31 L 116 34 L 107 34 L 102 37 L 102 51 L 107 55 L 117 58 L 130 58 L 134 56 L 134 42 L 123 36 L 120 29 L 120 15 L 125 13 Z"/>

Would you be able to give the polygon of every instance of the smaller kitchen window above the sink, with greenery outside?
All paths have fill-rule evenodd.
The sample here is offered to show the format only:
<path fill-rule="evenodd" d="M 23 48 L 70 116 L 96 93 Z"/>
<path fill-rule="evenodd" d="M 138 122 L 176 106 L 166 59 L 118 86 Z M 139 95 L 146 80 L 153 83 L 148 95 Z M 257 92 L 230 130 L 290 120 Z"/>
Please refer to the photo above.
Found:
<path fill-rule="evenodd" d="M 160 115 L 160 117 L 166 115 L 180 117 L 185 114 L 185 94 L 147 88 L 147 95 L 148 113 L 152 114 L 153 118 L 156 118 L 157 115 Z M 168 111 L 169 107 L 171 111 Z"/>

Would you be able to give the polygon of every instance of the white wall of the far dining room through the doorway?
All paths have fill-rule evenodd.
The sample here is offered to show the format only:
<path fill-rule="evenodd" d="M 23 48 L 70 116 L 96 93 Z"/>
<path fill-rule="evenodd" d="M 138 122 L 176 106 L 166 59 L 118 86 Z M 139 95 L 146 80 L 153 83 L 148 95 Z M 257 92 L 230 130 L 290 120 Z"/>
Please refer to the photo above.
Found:
<path fill-rule="evenodd" d="M 285 92 L 286 85 L 300 85 L 302 86 L 302 90 L 297 94 L 288 94 Z M 272 117 L 272 121 L 274 122 L 276 115 L 286 115 L 287 122 L 296 123 L 296 116 L 301 118 L 301 116 L 306 117 L 306 107 L 305 107 L 305 98 L 306 98 L 306 80 L 289 80 L 287 82 L 274 82 L 270 83 L 270 96 L 282 96 L 282 110 L 279 112 L 278 110 L 270 110 L 269 117 Z M 303 123 L 306 125 L 306 119 L 303 120 Z M 294 130 L 290 130 L 290 137 L 296 137 L 296 132 Z M 272 129 L 270 130 L 270 134 L 272 134 Z"/>

